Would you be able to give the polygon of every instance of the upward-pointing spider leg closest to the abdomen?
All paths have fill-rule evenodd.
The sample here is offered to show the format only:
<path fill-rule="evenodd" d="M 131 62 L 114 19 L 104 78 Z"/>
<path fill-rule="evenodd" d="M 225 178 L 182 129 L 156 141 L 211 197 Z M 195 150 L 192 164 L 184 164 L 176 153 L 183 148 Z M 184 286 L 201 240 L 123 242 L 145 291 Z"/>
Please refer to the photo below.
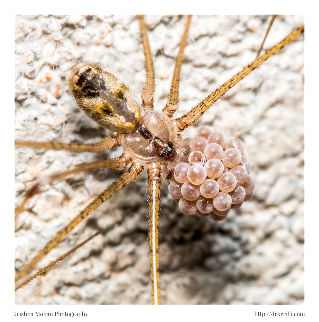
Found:
<path fill-rule="evenodd" d="M 146 110 L 153 110 L 153 95 L 155 90 L 155 71 L 154 64 L 151 54 L 151 48 L 147 38 L 147 31 L 144 22 L 143 15 L 137 16 L 140 23 L 140 30 L 142 35 L 143 50 L 145 56 L 145 69 L 146 69 L 146 80 L 145 85 L 141 94 L 142 106 Z"/>

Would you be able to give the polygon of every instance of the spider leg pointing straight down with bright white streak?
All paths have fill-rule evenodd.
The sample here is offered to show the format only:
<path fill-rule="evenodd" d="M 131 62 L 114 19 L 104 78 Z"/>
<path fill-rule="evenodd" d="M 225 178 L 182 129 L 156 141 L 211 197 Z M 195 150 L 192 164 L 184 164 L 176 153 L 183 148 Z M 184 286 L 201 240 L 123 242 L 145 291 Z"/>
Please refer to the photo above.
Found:
<path fill-rule="evenodd" d="M 149 242 L 152 281 L 152 303 L 160 304 L 159 258 L 158 258 L 158 211 L 161 188 L 161 165 L 159 162 L 146 165 L 149 193 Z"/>

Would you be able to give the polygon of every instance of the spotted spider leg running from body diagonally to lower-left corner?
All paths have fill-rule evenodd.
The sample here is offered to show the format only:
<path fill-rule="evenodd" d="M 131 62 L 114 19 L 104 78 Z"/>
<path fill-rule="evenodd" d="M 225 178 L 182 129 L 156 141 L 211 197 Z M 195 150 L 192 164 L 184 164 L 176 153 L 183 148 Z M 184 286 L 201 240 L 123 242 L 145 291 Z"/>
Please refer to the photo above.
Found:
<path fill-rule="evenodd" d="M 48 254 L 74 227 L 76 227 L 83 219 L 85 219 L 95 208 L 106 201 L 109 197 L 121 190 L 130 182 L 136 180 L 139 174 L 143 171 L 144 166 L 141 163 L 133 162 L 127 171 L 121 175 L 113 184 L 109 185 L 99 196 L 97 196 L 84 210 L 82 210 L 70 223 L 68 223 L 56 236 L 48 242 L 44 248 L 39 251 L 33 259 L 20 270 L 16 276 L 15 281 L 24 277 L 28 271 L 39 261 L 43 256 Z"/>

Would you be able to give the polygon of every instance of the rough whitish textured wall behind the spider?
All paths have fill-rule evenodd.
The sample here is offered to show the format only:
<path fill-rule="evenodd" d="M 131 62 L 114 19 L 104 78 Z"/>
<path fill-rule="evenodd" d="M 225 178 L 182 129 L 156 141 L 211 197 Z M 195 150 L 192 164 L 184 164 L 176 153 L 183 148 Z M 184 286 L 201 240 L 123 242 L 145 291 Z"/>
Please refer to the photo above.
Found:
<path fill-rule="evenodd" d="M 179 18 L 151 16 L 145 19 L 147 26 L 151 29 L 148 36 L 157 73 L 155 109 L 162 109 L 169 91 L 174 60 L 185 21 L 185 18 L 182 20 Z M 303 17 L 285 16 L 277 18 L 277 27 L 273 27 L 267 42 L 272 45 L 281 40 L 294 26 L 301 24 L 298 20 L 300 18 L 302 20 Z M 56 17 L 44 17 L 38 20 L 32 18 L 23 20 L 24 24 L 22 24 L 22 20 L 19 22 L 22 26 L 18 25 L 18 28 L 25 28 L 23 30 L 29 33 L 25 44 L 29 46 L 29 49 L 31 48 L 31 51 L 30 56 L 24 55 L 22 57 L 25 63 L 32 64 L 32 44 L 34 42 L 36 46 L 36 42 L 40 41 L 41 43 L 42 38 L 40 37 L 38 40 L 39 35 L 36 32 L 30 35 L 32 28 L 27 29 L 26 23 L 29 26 L 33 24 L 35 31 L 37 31 L 36 25 L 38 23 L 41 27 L 43 25 L 48 26 L 46 27 L 48 28 L 46 35 L 43 36 L 43 40 L 45 39 L 43 52 L 45 60 L 49 64 L 57 65 L 55 61 L 56 53 L 59 53 L 65 59 L 54 70 L 44 64 L 40 70 L 43 75 L 43 81 L 40 83 L 37 83 L 39 82 L 37 77 L 34 79 L 20 78 L 18 80 L 18 82 L 22 82 L 21 85 L 18 83 L 17 86 L 18 88 L 21 87 L 22 92 L 20 97 L 17 95 L 18 101 L 22 103 L 22 107 L 29 105 L 31 107 L 31 109 L 22 109 L 19 105 L 17 106 L 17 111 L 20 109 L 20 114 L 18 112 L 16 119 L 17 128 L 19 131 L 27 131 L 27 133 L 24 132 L 25 134 L 20 134 L 22 137 L 19 138 L 39 140 L 40 137 L 41 141 L 55 138 L 65 142 L 74 139 L 81 142 L 98 140 L 102 135 L 109 135 L 109 132 L 101 133 L 100 128 L 94 122 L 91 122 L 82 113 L 75 112 L 75 104 L 72 103 L 70 95 L 66 93 L 66 87 L 64 87 L 65 85 L 60 77 L 65 77 L 68 69 L 79 60 L 99 62 L 101 65 L 111 67 L 117 76 L 127 81 L 138 97 L 144 82 L 144 57 L 141 45 L 138 45 L 140 43 L 138 24 L 134 17 L 129 16 L 103 18 L 101 19 L 103 21 L 97 21 L 99 19 L 95 17 L 86 18 L 83 16 L 74 25 L 72 25 L 71 20 L 74 21 L 75 17 L 61 17 L 60 19 L 66 19 L 67 22 L 60 31 L 54 31 L 59 29 L 59 22 L 61 21 Z M 108 19 L 113 22 L 109 27 L 106 24 Z M 152 19 L 153 22 L 151 22 Z M 86 26 L 83 27 L 85 23 Z M 182 96 L 177 116 L 189 110 L 211 90 L 255 58 L 256 52 L 251 49 L 257 50 L 259 48 L 267 24 L 268 22 L 260 17 L 250 16 L 199 16 L 192 18 L 188 46 L 185 49 L 181 71 L 180 89 Z M 53 27 L 51 27 L 52 25 Z M 121 29 L 122 25 L 127 30 Z M 98 29 L 97 26 L 99 26 Z M 219 26 L 217 31 L 214 29 L 216 26 Z M 88 30 L 86 28 L 89 28 L 89 31 L 86 31 Z M 249 29 L 256 31 L 251 32 Z M 99 32 L 104 30 L 106 39 L 99 32 L 92 35 L 94 30 Z M 217 33 L 217 36 L 215 33 Z M 278 39 L 274 39 L 274 33 L 276 36 L 279 34 Z M 110 34 L 113 36 L 110 36 Z M 176 39 L 174 44 L 169 38 L 173 34 L 174 39 Z M 248 34 L 247 38 L 246 34 Z M 221 42 L 220 35 L 228 39 L 226 42 L 228 45 Z M 33 36 L 32 39 L 31 36 Z M 250 36 L 253 38 L 251 43 L 248 42 Z M 70 39 L 69 41 L 74 43 L 71 43 L 71 47 L 69 45 L 64 46 L 64 39 Z M 229 39 L 231 40 L 230 44 Z M 101 45 L 98 45 L 99 40 Z M 111 46 L 103 46 L 105 43 L 102 40 L 108 41 Z M 219 43 L 221 48 L 215 48 L 214 41 Z M 193 47 L 196 43 L 199 44 L 198 50 Z M 208 44 L 207 48 L 205 48 L 206 44 Z M 266 43 L 265 48 L 269 47 L 270 44 L 267 45 Z M 240 48 L 238 48 L 239 45 Z M 76 52 L 75 48 L 77 49 Z M 81 53 L 83 55 L 79 57 Z M 199 54 L 201 55 L 197 57 Z M 40 53 L 37 53 L 37 55 L 40 55 Z M 127 56 L 130 60 L 126 60 Z M 61 57 L 59 56 L 59 59 Z M 288 58 L 292 61 L 289 61 Z M 161 196 L 162 225 L 160 228 L 163 303 L 256 303 L 258 301 L 258 303 L 265 303 L 263 301 L 266 301 L 269 304 L 270 302 L 280 303 L 280 301 L 282 303 L 296 303 L 296 301 L 302 300 L 296 295 L 289 295 L 289 291 L 286 291 L 285 287 L 280 284 L 299 280 L 299 275 L 296 273 L 296 271 L 299 271 L 297 257 L 290 256 L 289 252 L 295 249 L 294 254 L 296 252 L 302 253 L 302 246 L 297 242 L 302 238 L 297 229 L 297 224 L 294 223 L 295 219 L 299 220 L 298 211 L 300 211 L 299 204 L 302 200 L 302 187 L 299 191 L 296 190 L 294 194 L 286 197 L 284 195 L 282 204 L 276 204 L 278 199 L 276 200 L 275 196 L 272 196 L 273 200 L 270 198 L 271 195 L 269 197 L 272 186 L 279 179 L 283 180 L 287 173 L 290 174 L 290 172 L 287 172 L 285 165 L 294 169 L 295 167 L 298 169 L 300 166 L 299 162 L 302 157 L 302 144 L 300 145 L 302 138 L 300 141 L 300 135 L 302 135 L 303 130 L 302 58 L 303 43 L 302 40 L 299 40 L 250 74 L 248 79 L 243 80 L 229 94 L 226 94 L 225 99 L 221 99 L 214 104 L 201 119 L 201 124 L 203 122 L 211 124 L 212 119 L 215 118 L 214 125 L 216 127 L 228 134 L 243 137 L 245 144 L 249 147 L 249 149 L 246 148 L 246 153 L 249 155 L 251 163 L 256 165 L 253 173 L 257 175 L 257 177 L 255 176 L 257 183 L 258 174 L 261 172 L 259 185 L 262 188 L 259 188 L 259 192 L 256 191 L 255 201 L 244 205 L 245 208 L 241 208 L 242 216 L 237 216 L 235 222 L 227 219 L 225 223 L 212 223 L 209 220 L 185 216 L 179 213 L 174 201 L 168 198 L 163 182 Z M 34 66 L 36 69 L 36 60 Z M 19 68 L 20 71 L 23 71 L 25 67 L 19 65 Z M 130 71 L 131 68 L 133 71 Z M 281 69 L 283 71 L 280 71 Z M 51 74 L 52 81 L 45 80 L 46 72 Z M 25 75 L 30 77 L 27 71 L 25 71 Z M 280 80 L 280 77 L 282 77 L 282 80 Z M 50 79 L 49 76 L 48 78 Z M 26 82 L 23 84 L 24 81 Z M 61 85 L 61 98 L 56 99 L 53 96 L 57 90 L 56 83 L 58 82 Z M 40 90 L 42 84 L 43 91 Z M 289 93 L 290 90 L 291 93 L 283 95 L 281 86 L 287 86 Z M 39 89 L 39 91 L 36 93 L 35 89 Z M 263 89 L 266 92 L 264 95 L 262 95 Z M 297 89 L 301 90 L 301 94 Z M 48 102 L 45 102 L 45 93 L 48 95 Z M 269 98 L 270 93 L 274 95 L 271 98 Z M 28 99 L 23 98 L 23 95 Z M 42 95 L 44 95 L 44 98 L 42 98 Z M 262 99 L 258 99 L 258 95 Z M 59 96 L 58 93 L 57 96 Z M 43 102 L 40 102 L 40 98 Z M 261 107 L 260 103 L 258 104 L 260 101 L 263 102 Z M 56 103 L 57 105 L 55 105 Z M 278 109 L 280 110 L 279 115 Z M 34 118 L 37 118 L 37 120 Z M 63 126 L 62 124 L 66 120 L 68 122 Z M 255 123 L 258 124 L 258 127 Z M 95 132 L 90 129 L 91 127 L 96 129 Z M 267 151 L 273 151 L 271 149 L 274 148 L 275 143 L 272 140 L 265 141 L 264 138 L 269 128 L 272 129 L 270 138 L 277 138 L 278 134 L 275 130 L 280 127 L 287 131 L 284 133 L 282 130 L 279 131 L 279 134 L 283 136 L 277 142 L 281 149 L 269 155 Z M 292 132 L 289 132 L 289 130 Z M 260 149 L 260 147 L 263 147 L 263 149 Z M 267 148 L 271 149 L 267 150 Z M 18 174 L 21 172 L 19 180 L 23 183 L 44 174 L 62 171 L 65 169 L 64 166 L 74 166 L 81 162 L 97 160 L 95 155 L 64 151 L 19 149 L 16 154 L 17 157 L 22 158 L 18 164 L 24 166 L 24 169 L 19 168 L 17 171 Z M 111 150 L 108 157 L 115 157 L 118 154 Z M 275 175 L 277 176 L 270 180 L 268 171 L 271 166 L 269 166 L 269 163 L 274 161 L 279 162 L 280 170 L 276 170 Z M 45 171 L 48 167 L 49 169 Z M 288 183 L 296 181 L 297 187 L 302 185 L 302 177 L 299 177 L 302 175 L 300 171 L 302 169 L 299 172 L 297 171 L 292 179 L 288 177 Z M 36 249 L 39 249 L 38 244 L 41 247 L 83 208 L 90 198 L 97 195 L 117 176 L 116 172 L 110 170 L 99 171 L 98 174 L 93 175 L 81 173 L 74 178 L 71 177 L 66 182 L 54 182 L 52 185 L 46 186 L 45 189 L 49 189 L 48 191 L 30 201 L 31 206 L 29 208 L 37 216 L 25 212 L 19 218 L 21 223 L 26 226 L 29 226 L 29 223 L 32 223 L 32 225 L 27 230 L 24 227 L 18 232 L 17 248 L 23 249 L 24 253 L 26 249 L 30 250 L 32 257 Z M 101 177 L 107 180 L 98 181 L 96 179 L 101 180 Z M 93 178 L 94 180 L 92 180 Z M 109 202 L 92 213 L 93 216 L 90 216 L 91 219 L 88 220 L 88 223 L 82 224 L 74 233 L 71 232 L 64 243 L 60 243 L 59 247 L 44 258 L 43 265 L 70 249 L 77 242 L 82 241 L 85 238 L 84 236 L 89 236 L 95 231 L 96 225 L 104 228 L 111 228 L 114 225 L 106 237 L 96 237 L 75 252 L 70 259 L 64 260 L 59 267 L 50 271 L 44 280 L 38 279 L 30 286 L 25 287 L 16 295 L 17 303 L 149 303 L 148 243 L 146 240 L 148 224 L 145 219 L 146 208 L 144 207 L 146 186 L 145 176 L 142 175 L 138 181 L 130 185 L 130 188 L 112 197 Z M 133 187 L 135 188 L 133 189 Z M 267 194 L 267 188 L 270 190 L 269 194 Z M 18 192 L 22 191 L 22 186 L 17 185 L 17 190 Z M 19 197 L 21 200 L 22 194 Z M 17 203 L 19 203 L 19 199 Z M 34 207 L 32 207 L 33 204 Z M 41 205 L 49 211 L 44 212 Z M 292 214 L 295 211 L 294 218 Z M 233 214 L 230 218 L 235 216 Z M 258 221 L 260 216 L 264 218 L 265 222 L 262 225 L 255 226 L 255 221 Z M 297 226 L 291 231 L 288 226 L 289 217 L 293 219 L 293 225 Z M 83 230 L 83 233 L 80 233 L 81 230 Z M 253 232 L 249 232 L 249 230 Z M 52 235 L 48 236 L 47 232 L 51 233 L 51 231 Z M 285 234 L 288 234 L 288 242 L 290 241 L 291 244 L 289 251 L 286 246 L 283 247 L 284 253 L 288 252 L 284 258 L 292 257 L 296 263 L 290 262 L 289 265 L 287 264 L 288 267 L 291 267 L 288 273 L 282 273 L 282 264 L 267 267 L 266 272 L 272 272 L 274 276 L 274 281 L 269 284 L 268 277 L 264 278 L 263 274 L 258 273 L 258 260 L 264 264 L 264 261 L 259 259 L 258 254 L 261 253 L 266 256 L 266 261 L 270 263 L 276 262 L 273 253 L 267 254 L 261 248 L 268 249 L 265 236 L 274 235 L 274 242 L 277 244 L 285 239 L 283 237 Z M 296 236 L 298 239 L 296 239 Z M 33 242 L 34 244 L 32 244 Z M 23 247 L 19 243 L 23 244 Z M 245 246 L 247 244 L 248 247 Z M 258 244 L 260 245 L 257 247 Z M 223 251 L 223 248 L 225 251 Z M 233 253 L 231 253 L 232 248 L 235 248 Z M 236 253 L 236 251 L 238 252 Z M 245 254 L 247 252 L 249 253 Z M 23 262 L 26 261 L 26 256 L 26 254 L 23 254 L 21 259 Z M 255 266 L 248 269 L 249 263 Z M 16 265 L 19 266 L 19 260 L 16 261 Z M 280 278 L 280 282 L 277 283 L 276 274 L 278 276 L 286 274 L 286 278 Z M 243 280 L 245 281 L 244 286 L 242 286 Z M 272 283 L 278 285 L 275 287 L 275 284 Z M 269 293 L 269 298 L 265 298 L 263 295 L 265 285 L 269 289 L 273 289 L 273 293 Z M 242 287 L 245 298 L 240 297 L 243 295 L 231 297 L 234 293 L 239 293 L 239 287 Z M 284 292 L 280 293 L 281 298 L 276 298 L 278 290 Z M 260 296 L 259 299 L 256 293 Z M 39 295 L 41 298 L 33 298 L 35 295 Z"/>

